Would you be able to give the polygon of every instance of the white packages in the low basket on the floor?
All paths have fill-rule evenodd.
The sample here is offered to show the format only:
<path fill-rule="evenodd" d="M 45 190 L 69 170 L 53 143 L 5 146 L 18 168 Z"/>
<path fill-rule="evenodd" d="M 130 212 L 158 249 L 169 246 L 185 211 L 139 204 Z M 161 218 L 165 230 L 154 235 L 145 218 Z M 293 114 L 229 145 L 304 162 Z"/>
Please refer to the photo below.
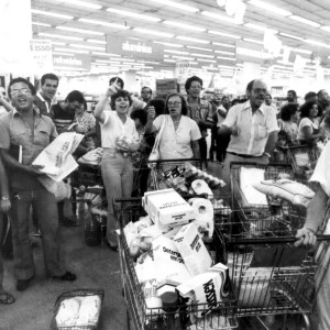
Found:
<path fill-rule="evenodd" d="M 99 295 L 77 296 L 64 299 L 55 317 L 57 329 L 96 329 L 102 300 Z"/>

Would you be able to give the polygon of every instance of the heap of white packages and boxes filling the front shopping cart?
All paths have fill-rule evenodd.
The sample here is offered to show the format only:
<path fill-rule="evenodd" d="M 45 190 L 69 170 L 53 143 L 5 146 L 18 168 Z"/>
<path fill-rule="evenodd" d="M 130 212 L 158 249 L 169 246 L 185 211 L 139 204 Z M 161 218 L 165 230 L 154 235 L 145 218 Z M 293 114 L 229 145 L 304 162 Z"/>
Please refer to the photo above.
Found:
<path fill-rule="evenodd" d="M 142 204 L 147 216 L 128 223 L 124 235 L 130 255 L 136 261 L 135 272 L 144 288 L 146 308 L 161 310 L 162 299 L 169 292 L 188 305 L 205 304 L 190 316 L 190 321 L 196 322 L 229 294 L 223 289 L 229 280 L 228 267 L 221 263 L 213 265 L 207 249 L 215 230 L 212 204 L 195 198 L 189 205 L 174 189 L 145 193 Z M 205 212 L 200 213 L 199 208 Z M 152 299 L 151 282 L 156 286 Z M 227 320 L 222 319 L 226 326 Z"/>

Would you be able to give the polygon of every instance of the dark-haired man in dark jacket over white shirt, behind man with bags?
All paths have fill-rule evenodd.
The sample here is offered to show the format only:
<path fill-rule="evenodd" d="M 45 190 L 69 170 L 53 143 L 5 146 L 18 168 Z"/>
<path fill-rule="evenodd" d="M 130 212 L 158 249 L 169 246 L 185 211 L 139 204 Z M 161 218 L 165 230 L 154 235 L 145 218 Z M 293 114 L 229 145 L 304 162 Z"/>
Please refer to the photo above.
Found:
<path fill-rule="evenodd" d="M 51 107 L 58 87 L 58 77 L 54 74 L 45 74 L 41 78 L 41 90 L 36 94 L 34 105 L 40 113 L 51 117 Z"/>

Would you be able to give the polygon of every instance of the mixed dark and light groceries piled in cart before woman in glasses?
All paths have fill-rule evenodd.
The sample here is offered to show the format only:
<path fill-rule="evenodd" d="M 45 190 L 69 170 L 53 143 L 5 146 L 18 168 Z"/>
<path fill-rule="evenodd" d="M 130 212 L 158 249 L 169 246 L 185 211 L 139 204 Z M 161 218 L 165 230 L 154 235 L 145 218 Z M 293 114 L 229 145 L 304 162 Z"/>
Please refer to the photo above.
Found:
<path fill-rule="evenodd" d="M 174 188 L 185 198 L 202 195 L 205 198 L 212 199 L 212 189 L 224 187 L 224 182 L 209 175 L 207 172 L 198 169 L 189 162 L 184 165 L 176 165 L 162 173 L 166 186 Z"/>

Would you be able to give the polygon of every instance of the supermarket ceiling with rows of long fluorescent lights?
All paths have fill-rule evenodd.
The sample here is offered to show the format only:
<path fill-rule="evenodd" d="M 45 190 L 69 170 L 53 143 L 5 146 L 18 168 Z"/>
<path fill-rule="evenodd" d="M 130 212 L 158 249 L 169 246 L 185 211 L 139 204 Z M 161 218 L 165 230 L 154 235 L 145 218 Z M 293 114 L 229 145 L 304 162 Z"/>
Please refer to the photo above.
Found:
<path fill-rule="evenodd" d="M 34 38 L 52 40 L 54 53 L 91 56 L 109 73 L 168 68 L 185 59 L 200 69 L 246 61 L 285 73 L 299 56 L 306 73 L 316 63 L 330 68 L 329 0 L 32 0 L 32 23 Z M 264 50 L 270 34 L 276 37 L 267 41 L 271 48 L 282 42 L 272 56 Z M 130 55 L 118 52 L 117 41 L 127 51 L 145 47 Z M 150 56 L 148 46 L 162 47 L 154 52 L 161 55 Z"/>

